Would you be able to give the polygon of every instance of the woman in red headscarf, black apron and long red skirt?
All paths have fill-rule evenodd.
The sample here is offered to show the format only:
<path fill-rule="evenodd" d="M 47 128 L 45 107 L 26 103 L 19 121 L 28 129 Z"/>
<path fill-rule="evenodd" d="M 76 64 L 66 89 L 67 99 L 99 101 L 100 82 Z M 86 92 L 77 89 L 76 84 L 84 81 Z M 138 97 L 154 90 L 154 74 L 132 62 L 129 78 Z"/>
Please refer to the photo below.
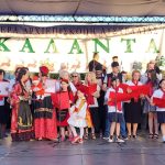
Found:
<path fill-rule="evenodd" d="M 40 80 L 45 87 L 45 81 L 48 75 L 46 66 L 40 67 Z M 35 139 L 42 141 L 43 139 L 55 141 L 57 139 L 56 113 L 52 105 L 50 94 L 44 94 L 42 99 L 35 98 L 34 101 L 34 130 Z"/>

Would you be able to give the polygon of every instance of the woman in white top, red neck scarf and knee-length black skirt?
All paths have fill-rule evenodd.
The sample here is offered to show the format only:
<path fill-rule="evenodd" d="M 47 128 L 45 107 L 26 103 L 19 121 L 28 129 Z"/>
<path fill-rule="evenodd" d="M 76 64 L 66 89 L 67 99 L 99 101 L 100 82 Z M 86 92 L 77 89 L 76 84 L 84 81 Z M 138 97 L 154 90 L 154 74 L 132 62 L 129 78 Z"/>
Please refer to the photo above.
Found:
<path fill-rule="evenodd" d="M 138 87 L 142 86 L 142 82 L 140 82 L 140 72 L 133 70 L 132 73 L 132 80 L 129 80 L 127 85 Z M 128 138 L 131 138 L 131 125 L 133 127 L 133 138 L 136 139 L 136 130 L 138 124 L 141 122 L 141 116 L 142 116 L 142 106 L 141 106 L 141 99 L 139 97 L 134 97 L 131 99 L 130 102 L 124 103 L 124 117 L 128 128 Z"/>

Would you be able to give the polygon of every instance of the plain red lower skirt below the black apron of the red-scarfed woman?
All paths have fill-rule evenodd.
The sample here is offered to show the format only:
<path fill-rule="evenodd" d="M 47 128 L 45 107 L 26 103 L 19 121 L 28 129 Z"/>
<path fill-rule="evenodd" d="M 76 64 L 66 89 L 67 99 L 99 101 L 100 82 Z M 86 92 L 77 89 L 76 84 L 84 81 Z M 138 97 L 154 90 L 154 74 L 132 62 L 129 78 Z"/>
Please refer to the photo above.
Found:
<path fill-rule="evenodd" d="M 53 111 L 52 119 L 35 119 L 34 120 L 35 139 L 57 139 L 56 112 Z"/>

